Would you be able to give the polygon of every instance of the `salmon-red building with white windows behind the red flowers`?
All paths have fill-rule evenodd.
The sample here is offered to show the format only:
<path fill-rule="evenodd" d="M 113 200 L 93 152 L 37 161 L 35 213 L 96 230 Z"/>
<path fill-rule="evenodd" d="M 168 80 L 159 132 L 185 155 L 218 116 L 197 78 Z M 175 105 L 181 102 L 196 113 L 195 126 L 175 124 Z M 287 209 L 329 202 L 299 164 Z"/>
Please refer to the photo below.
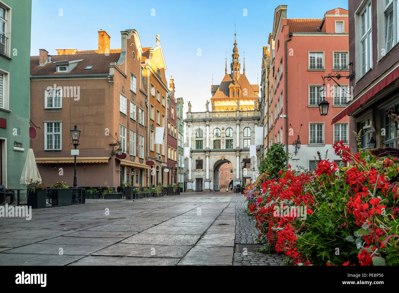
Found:
<path fill-rule="evenodd" d="M 323 81 L 329 74 L 349 74 L 348 10 L 327 11 L 322 19 L 287 19 L 287 6 L 275 9 L 269 44 L 273 75 L 269 78 L 269 143 L 281 142 L 292 155 L 294 169 L 313 169 L 320 152 L 330 161 L 340 158 L 333 144 L 348 144 L 349 117 L 331 124 L 349 96 L 349 79 Z M 330 103 L 328 114 L 320 116 L 318 104 Z M 271 121 L 271 123 L 270 123 Z M 271 127 L 273 126 L 273 127 Z M 300 141 L 300 148 L 293 144 Z M 297 167 L 298 166 L 298 167 Z"/>

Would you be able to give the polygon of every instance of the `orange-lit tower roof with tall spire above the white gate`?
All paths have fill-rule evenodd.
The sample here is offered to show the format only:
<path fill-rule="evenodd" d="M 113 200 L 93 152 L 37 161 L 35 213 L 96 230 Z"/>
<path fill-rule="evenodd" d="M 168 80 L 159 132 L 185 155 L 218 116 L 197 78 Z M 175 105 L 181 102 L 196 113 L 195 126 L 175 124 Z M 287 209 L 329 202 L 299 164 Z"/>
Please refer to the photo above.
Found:
<path fill-rule="evenodd" d="M 211 85 L 211 103 L 214 112 L 230 112 L 237 110 L 255 110 L 259 105 L 259 85 L 251 85 L 245 76 L 245 57 L 243 73 L 240 73 L 241 64 L 237 48 L 237 34 L 234 33 L 234 48 L 231 54 L 230 74 L 227 73 L 227 57 L 225 76 L 219 85 Z"/>

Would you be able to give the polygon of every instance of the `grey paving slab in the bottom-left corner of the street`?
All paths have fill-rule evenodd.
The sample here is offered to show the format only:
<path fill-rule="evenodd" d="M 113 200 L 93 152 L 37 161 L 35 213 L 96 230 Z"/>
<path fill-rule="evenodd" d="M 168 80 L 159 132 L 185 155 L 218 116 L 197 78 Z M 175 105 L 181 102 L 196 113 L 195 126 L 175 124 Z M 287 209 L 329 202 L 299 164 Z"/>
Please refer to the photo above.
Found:
<path fill-rule="evenodd" d="M 66 265 L 82 256 L 51 254 L 0 254 L 0 265 Z"/>

